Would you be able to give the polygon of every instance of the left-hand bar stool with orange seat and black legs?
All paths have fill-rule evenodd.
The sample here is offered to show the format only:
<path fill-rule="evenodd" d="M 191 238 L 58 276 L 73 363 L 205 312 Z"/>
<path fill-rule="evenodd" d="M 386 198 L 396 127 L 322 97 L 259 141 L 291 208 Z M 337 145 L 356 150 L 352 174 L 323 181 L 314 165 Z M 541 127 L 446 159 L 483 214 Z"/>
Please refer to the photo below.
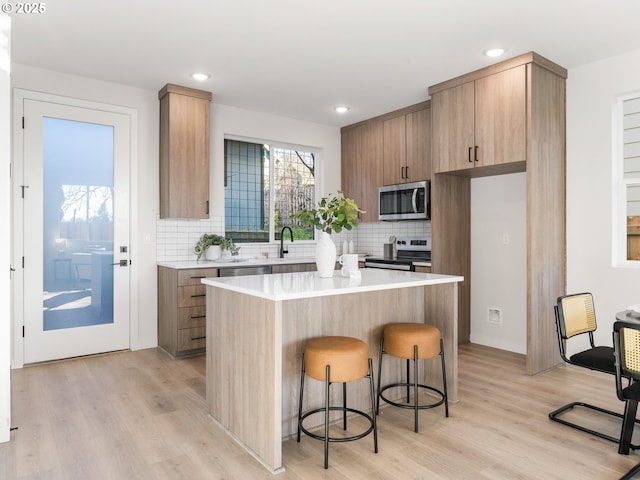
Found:
<path fill-rule="evenodd" d="M 324 407 L 302 413 L 305 376 L 325 382 Z M 371 394 L 371 415 L 362 410 L 347 407 L 347 382 L 369 378 Z M 342 383 L 342 406 L 331 406 L 329 387 L 332 383 Z M 373 386 L 373 364 L 369 357 L 369 348 L 362 340 L 352 337 L 319 337 L 311 339 L 305 345 L 302 354 L 300 374 L 300 402 L 298 404 L 298 442 L 300 434 L 324 441 L 324 468 L 329 468 L 329 442 L 350 442 L 366 437 L 373 432 L 374 452 L 378 453 L 378 429 L 375 414 L 375 389 Z M 347 437 L 329 436 L 329 413 L 342 412 L 343 430 L 347 430 L 347 413 L 360 415 L 368 420 L 368 428 L 359 434 Z M 311 433 L 303 426 L 310 415 L 324 413 L 324 434 Z"/>

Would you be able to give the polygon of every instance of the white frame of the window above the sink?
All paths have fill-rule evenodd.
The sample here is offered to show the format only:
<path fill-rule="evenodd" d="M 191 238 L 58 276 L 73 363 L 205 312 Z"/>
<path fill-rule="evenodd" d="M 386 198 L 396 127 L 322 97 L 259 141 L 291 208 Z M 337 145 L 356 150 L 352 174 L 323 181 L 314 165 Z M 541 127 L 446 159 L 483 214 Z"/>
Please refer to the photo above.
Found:
<path fill-rule="evenodd" d="M 262 145 L 269 145 L 269 148 L 283 148 L 288 150 L 304 150 L 305 152 L 310 152 L 315 155 L 315 164 L 314 164 L 314 205 L 319 198 L 319 192 L 322 190 L 322 172 L 324 171 L 322 168 L 322 149 L 318 147 L 312 147 L 309 145 L 301 145 L 295 143 L 288 143 L 282 141 L 274 141 L 274 140 L 264 140 L 253 137 L 243 137 L 238 135 L 229 135 L 225 134 L 223 137 L 223 141 L 233 140 L 237 142 L 246 142 L 246 143 L 256 143 Z M 226 161 L 226 159 L 225 159 Z M 274 167 L 273 167 L 273 156 L 269 155 L 269 192 L 273 195 L 274 192 Z M 271 245 L 271 244 L 280 244 L 280 240 L 276 239 L 276 231 L 275 231 L 275 202 L 273 201 L 273 196 L 269 198 L 269 241 L 268 242 L 244 242 L 243 245 Z M 224 218 L 225 232 L 226 232 L 226 211 Z M 296 242 L 300 242 L 302 244 L 315 244 L 316 243 L 315 232 L 314 238 L 311 240 L 296 240 Z"/>

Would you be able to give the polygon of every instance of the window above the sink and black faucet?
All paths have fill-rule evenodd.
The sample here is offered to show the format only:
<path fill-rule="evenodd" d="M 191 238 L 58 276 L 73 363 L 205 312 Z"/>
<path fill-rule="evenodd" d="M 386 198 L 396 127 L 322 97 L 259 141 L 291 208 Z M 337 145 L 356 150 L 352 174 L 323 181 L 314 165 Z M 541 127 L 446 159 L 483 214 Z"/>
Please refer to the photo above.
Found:
<path fill-rule="evenodd" d="M 227 237 L 269 242 L 289 226 L 295 240 L 313 239 L 313 229 L 291 214 L 315 205 L 314 151 L 225 139 L 224 170 Z"/>

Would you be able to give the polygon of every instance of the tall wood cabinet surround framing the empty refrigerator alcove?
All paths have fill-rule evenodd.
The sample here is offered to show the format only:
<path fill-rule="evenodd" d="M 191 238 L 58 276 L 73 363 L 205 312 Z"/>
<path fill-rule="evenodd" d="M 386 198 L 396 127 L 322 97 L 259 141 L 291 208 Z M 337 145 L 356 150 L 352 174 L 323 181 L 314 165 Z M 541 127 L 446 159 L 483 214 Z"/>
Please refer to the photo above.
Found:
<path fill-rule="evenodd" d="M 465 277 L 459 339 L 470 333 L 471 178 L 527 175 L 527 373 L 562 362 L 553 306 L 565 293 L 567 71 L 530 52 L 429 87 L 436 273 Z"/>

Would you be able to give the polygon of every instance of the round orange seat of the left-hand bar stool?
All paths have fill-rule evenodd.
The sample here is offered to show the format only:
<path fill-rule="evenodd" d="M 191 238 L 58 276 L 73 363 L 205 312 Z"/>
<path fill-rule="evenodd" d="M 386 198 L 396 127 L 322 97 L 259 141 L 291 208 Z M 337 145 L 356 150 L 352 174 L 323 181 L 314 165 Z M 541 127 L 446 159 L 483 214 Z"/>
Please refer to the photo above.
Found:
<path fill-rule="evenodd" d="M 352 382 L 367 376 L 369 348 L 351 337 L 320 337 L 307 342 L 304 350 L 307 375 L 324 381 L 330 366 L 330 382 Z"/>

